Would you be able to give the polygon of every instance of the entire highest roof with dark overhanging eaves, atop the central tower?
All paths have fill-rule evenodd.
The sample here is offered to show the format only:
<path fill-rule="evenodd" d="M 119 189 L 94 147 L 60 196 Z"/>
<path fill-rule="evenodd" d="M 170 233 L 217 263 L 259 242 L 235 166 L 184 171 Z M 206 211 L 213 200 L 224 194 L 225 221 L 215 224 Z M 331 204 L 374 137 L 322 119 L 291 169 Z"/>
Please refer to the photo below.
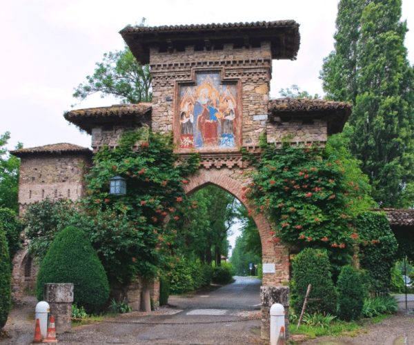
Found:
<path fill-rule="evenodd" d="M 119 32 L 132 54 L 142 64 L 150 61 L 150 48 L 160 51 L 184 52 L 185 46 L 196 50 L 219 49 L 224 43 L 235 46 L 259 45 L 270 42 L 272 59 L 296 59 L 299 50 L 299 24 L 290 21 L 257 21 L 255 23 L 223 23 L 181 26 L 127 26 Z M 206 46 L 206 43 L 208 44 Z"/>

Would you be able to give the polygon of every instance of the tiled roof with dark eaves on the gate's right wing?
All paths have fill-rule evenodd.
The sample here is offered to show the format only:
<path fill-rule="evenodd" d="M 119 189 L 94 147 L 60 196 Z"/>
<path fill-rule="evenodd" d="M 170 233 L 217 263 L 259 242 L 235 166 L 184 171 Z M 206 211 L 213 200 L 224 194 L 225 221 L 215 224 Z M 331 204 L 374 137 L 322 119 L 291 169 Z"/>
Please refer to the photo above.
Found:
<path fill-rule="evenodd" d="M 328 135 L 341 132 L 352 112 L 352 105 L 346 102 L 324 99 L 279 98 L 268 104 L 270 121 L 292 119 L 322 119 L 328 124 Z"/>

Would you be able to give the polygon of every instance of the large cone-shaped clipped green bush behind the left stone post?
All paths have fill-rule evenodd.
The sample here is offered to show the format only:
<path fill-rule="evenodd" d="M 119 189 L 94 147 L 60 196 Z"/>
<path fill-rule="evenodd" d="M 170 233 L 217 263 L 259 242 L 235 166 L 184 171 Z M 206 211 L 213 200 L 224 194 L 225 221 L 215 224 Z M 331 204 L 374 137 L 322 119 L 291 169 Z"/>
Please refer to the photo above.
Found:
<path fill-rule="evenodd" d="M 109 285 L 98 255 L 79 228 L 68 226 L 50 245 L 37 275 L 37 299 L 46 283 L 73 283 L 74 302 L 90 312 L 109 297 Z"/>

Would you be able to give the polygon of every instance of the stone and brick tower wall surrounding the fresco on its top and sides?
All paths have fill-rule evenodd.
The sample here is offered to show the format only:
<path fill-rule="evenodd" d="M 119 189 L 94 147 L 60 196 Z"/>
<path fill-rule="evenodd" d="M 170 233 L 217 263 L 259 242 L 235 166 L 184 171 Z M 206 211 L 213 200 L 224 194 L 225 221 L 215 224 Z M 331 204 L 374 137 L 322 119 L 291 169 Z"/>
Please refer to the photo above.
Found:
<path fill-rule="evenodd" d="M 174 114 L 179 99 L 176 88 L 180 81 L 195 80 L 195 73 L 219 71 L 223 80 L 238 81 L 237 93 L 242 102 L 242 145 L 255 145 L 266 129 L 268 90 L 271 78 L 270 43 L 260 48 L 233 48 L 224 44 L 223 50 L 186 52 L 150 51 L 152 74 L 152 130 L 167 132 L 175 128 Z M 176 126 L 177 127 L 177 126 Z"/>

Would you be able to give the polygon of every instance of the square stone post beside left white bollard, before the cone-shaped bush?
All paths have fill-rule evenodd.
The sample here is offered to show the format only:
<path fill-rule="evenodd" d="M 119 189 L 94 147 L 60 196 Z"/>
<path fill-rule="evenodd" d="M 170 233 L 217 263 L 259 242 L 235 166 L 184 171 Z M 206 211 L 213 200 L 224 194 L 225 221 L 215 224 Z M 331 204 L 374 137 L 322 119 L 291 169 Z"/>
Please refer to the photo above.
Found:
<path fill-rule="evenodd" d="M 70 332 L 73 284 L 45 284 L 45 301 L 50 305 L 50 316 L 55 316 L 56 333 Z"/>

